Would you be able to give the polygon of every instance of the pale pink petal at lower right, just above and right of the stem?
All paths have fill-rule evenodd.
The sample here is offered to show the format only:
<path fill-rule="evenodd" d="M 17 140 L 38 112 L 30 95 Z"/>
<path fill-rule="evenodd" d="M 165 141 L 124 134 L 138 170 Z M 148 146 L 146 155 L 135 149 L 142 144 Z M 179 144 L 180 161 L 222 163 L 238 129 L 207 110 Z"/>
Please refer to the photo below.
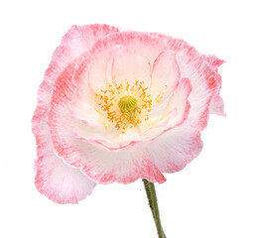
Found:
<path fill-rule="evenodd" d="M 201 149 L 200 133 L 180 126 L 156 139 L 148 152 L 161 172 L 174 173 L 183 170 Z"/>

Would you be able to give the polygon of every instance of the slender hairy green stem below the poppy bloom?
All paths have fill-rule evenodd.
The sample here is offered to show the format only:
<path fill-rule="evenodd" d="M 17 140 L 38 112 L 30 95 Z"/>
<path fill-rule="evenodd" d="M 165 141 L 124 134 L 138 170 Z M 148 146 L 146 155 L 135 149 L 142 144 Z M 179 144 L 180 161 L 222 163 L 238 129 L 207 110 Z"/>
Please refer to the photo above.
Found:
<path fill-rule="evenodd" d="M 161 225 L 160 221 L 160 214 L 159 214 L 159 208 L 158 208 L 158 199 L 157 199 L 157 194 L 156 194 L 156 189 L 154 182 L 150 182 L 147 179 L 142 179 L 144 182 L 144 186 L 147 192 L 148 200 L 149 200 L 149 205 L 157 226 L 158 230 L 158 236 L 159 238 L 166 238 L 165 232 L 163 230 L 163 227 Z"/>

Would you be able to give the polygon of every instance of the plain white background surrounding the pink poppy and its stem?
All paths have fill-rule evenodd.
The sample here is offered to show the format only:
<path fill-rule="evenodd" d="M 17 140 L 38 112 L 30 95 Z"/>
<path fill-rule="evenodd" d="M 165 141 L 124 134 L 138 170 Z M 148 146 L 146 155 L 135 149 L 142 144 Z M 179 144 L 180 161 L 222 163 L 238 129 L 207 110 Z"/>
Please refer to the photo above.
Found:
<path fill-rule="evenodd" d="M 157 184 L 169 238 L 256 237 L 256 36 L 253 0 L 1 1 L 0 237 L 157 237 L 141 180 L 98 185 L 78 205 L 34 186 L 37 88 L 68 28 L 106 23 L 182 38 L 220 67 L 227 117 L 210 116 L 204 147 Z"/>

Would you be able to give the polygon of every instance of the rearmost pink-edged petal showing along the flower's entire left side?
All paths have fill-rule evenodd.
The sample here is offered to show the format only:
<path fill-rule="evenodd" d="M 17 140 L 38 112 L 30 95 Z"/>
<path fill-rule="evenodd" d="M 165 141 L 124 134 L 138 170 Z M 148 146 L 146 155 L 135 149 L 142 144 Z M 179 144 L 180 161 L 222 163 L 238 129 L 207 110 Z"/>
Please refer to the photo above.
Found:
<path fill-rule="evenodd" d="M 53 151 L 47 127 L 52 87 L 64 67 L 96 41 L 118 29 L 107 25 L 72 26 L 56 50 L 38 92 L 38 106 L 32 120 L 37 140 L 38 160 L 35 165 L 36 186 L 39 191 L 58 203 L 77 203 L 91 193 L 95 183 L 77 169 L 70 168 Z"/>

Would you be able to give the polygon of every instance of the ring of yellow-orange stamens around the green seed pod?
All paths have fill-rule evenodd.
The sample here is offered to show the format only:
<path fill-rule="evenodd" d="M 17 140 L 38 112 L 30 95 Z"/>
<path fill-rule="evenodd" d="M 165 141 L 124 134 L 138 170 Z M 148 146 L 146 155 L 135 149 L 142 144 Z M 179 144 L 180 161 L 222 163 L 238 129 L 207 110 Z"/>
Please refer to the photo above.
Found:
<path fill-rule="evenodd" d="M 125 134 L 127 130 L 149 120 L 153 99 L 143 80 L 117 83 L 114 77 L 113 82 L 100 89 L 95 96 L 96 110 L 101 114 L 106 130 L 115 129 Z M 159 101 L 161 96 L 156 99 Z"/>

